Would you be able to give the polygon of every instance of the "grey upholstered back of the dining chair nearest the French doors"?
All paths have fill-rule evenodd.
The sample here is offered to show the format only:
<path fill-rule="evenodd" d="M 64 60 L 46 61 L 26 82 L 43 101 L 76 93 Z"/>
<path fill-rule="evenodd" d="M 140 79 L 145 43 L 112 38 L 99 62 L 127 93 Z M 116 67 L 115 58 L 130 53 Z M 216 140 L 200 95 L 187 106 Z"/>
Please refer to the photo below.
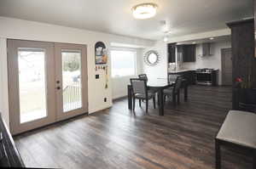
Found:
<path fill-rule="evenodd" d="M 130 79 L 132 92 L 133 94 L 143 94 L 145 96 L 148 95 L 147 93 L 147 81 L 145 79 L 140 78 L 132 78 Z"/>

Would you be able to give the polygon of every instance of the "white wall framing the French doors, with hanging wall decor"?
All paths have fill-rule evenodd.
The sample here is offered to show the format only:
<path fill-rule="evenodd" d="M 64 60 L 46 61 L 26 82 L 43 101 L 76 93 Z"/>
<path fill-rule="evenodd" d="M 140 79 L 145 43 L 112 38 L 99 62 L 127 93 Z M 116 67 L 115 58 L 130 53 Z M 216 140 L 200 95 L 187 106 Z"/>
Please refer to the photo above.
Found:
<path fill-rule="evenodd" d="M 152 46 L 154 42 L 132 38 L 132 37 L 122 37 L 115 36 L 106 33 L 96 32 L 96 31 L 85 31 L 74 29 L 70 27 L 60 26 L 60 25 L 49 25 L 39 22 L 27 21 L 27 20 L 17 20 L 12 18 L 0 17 L 0 37 L 1 37 L 1 55 L 0 55 L 0 79 L 1 79 L 1 109 L 3 110 L 4 116 L 9 116 L 9 111 L 6 109 L 8 103 L 8 87 L 7 87 L 7 54 L 6 54 L 6 39 L 24 39 L 24 40 L 35 40 L 35 41 L 45 41 L 45 42 L 68 42 L 68 43 L 78 43 L 87 45 L 87 59 L 88 59 L 88 85 L 89 85 L 89 112 L 95 112 L 97 110 L 103 110 L 112 105 L 112 84 L 109 81 L 108 89 L 105 89 L 105 78 L 104 71 L 99 72 L 102 77 L 99 80 L 95 79 L 95 52 L 94 45 L 98 41 L 105 42 L 107 47 L 110 47 L 111 42 L 125 42 L 127 44 L 135 44 L 141 46 Z M 109 64 L 109 62 L 108 62 Z M 109 67 L 109 72 L 110 72 Z M 110 73 L 108 73 L 109 76 Z M 109 78 L 110 79 L 110 78 Z M 5 91 L 3 93 L 3 91 Z M 108 102 L 104 103 L 103 99 L 107 97 Z M 8 121 L 8 119 L 5 119 Z"/>

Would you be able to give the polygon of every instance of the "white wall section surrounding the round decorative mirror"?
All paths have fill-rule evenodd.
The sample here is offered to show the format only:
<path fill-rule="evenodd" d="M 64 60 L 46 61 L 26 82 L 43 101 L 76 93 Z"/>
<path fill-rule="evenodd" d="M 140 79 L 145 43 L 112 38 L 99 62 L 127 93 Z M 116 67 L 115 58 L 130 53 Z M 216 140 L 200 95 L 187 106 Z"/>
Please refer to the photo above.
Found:
<path fill-rule="evenodd" d="M 166 42 L 158 41 L 154 47 L 143 49 L 143 55 L 149 50 L 155 50 L 160 54 L 160 63 L 158 65 L 148 66 L 143 62 L 143 72 L 151 79 L 167 78 L 168 59 Z"/>

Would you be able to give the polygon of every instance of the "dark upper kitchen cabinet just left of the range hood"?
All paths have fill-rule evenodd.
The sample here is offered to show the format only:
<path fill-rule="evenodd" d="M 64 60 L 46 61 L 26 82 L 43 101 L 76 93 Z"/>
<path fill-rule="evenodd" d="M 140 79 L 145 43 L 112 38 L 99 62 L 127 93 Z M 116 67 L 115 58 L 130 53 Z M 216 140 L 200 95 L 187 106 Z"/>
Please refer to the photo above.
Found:
<path fill-rule="evenodd" d="M 177 46 L 178 55 L 182 56 L 183 62 L 195 62 L 195 44 L 186 44 Z"/>

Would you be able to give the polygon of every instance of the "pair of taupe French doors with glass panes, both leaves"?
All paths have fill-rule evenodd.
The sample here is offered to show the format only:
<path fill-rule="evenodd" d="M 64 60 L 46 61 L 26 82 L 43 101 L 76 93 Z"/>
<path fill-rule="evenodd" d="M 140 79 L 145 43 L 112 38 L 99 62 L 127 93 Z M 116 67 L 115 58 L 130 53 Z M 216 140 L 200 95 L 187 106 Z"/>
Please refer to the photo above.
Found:
<path fill-rule="evenodd" d="M 84 45 L 8 40 L 13 134 L 87 112 L 85 53 Z"/>

